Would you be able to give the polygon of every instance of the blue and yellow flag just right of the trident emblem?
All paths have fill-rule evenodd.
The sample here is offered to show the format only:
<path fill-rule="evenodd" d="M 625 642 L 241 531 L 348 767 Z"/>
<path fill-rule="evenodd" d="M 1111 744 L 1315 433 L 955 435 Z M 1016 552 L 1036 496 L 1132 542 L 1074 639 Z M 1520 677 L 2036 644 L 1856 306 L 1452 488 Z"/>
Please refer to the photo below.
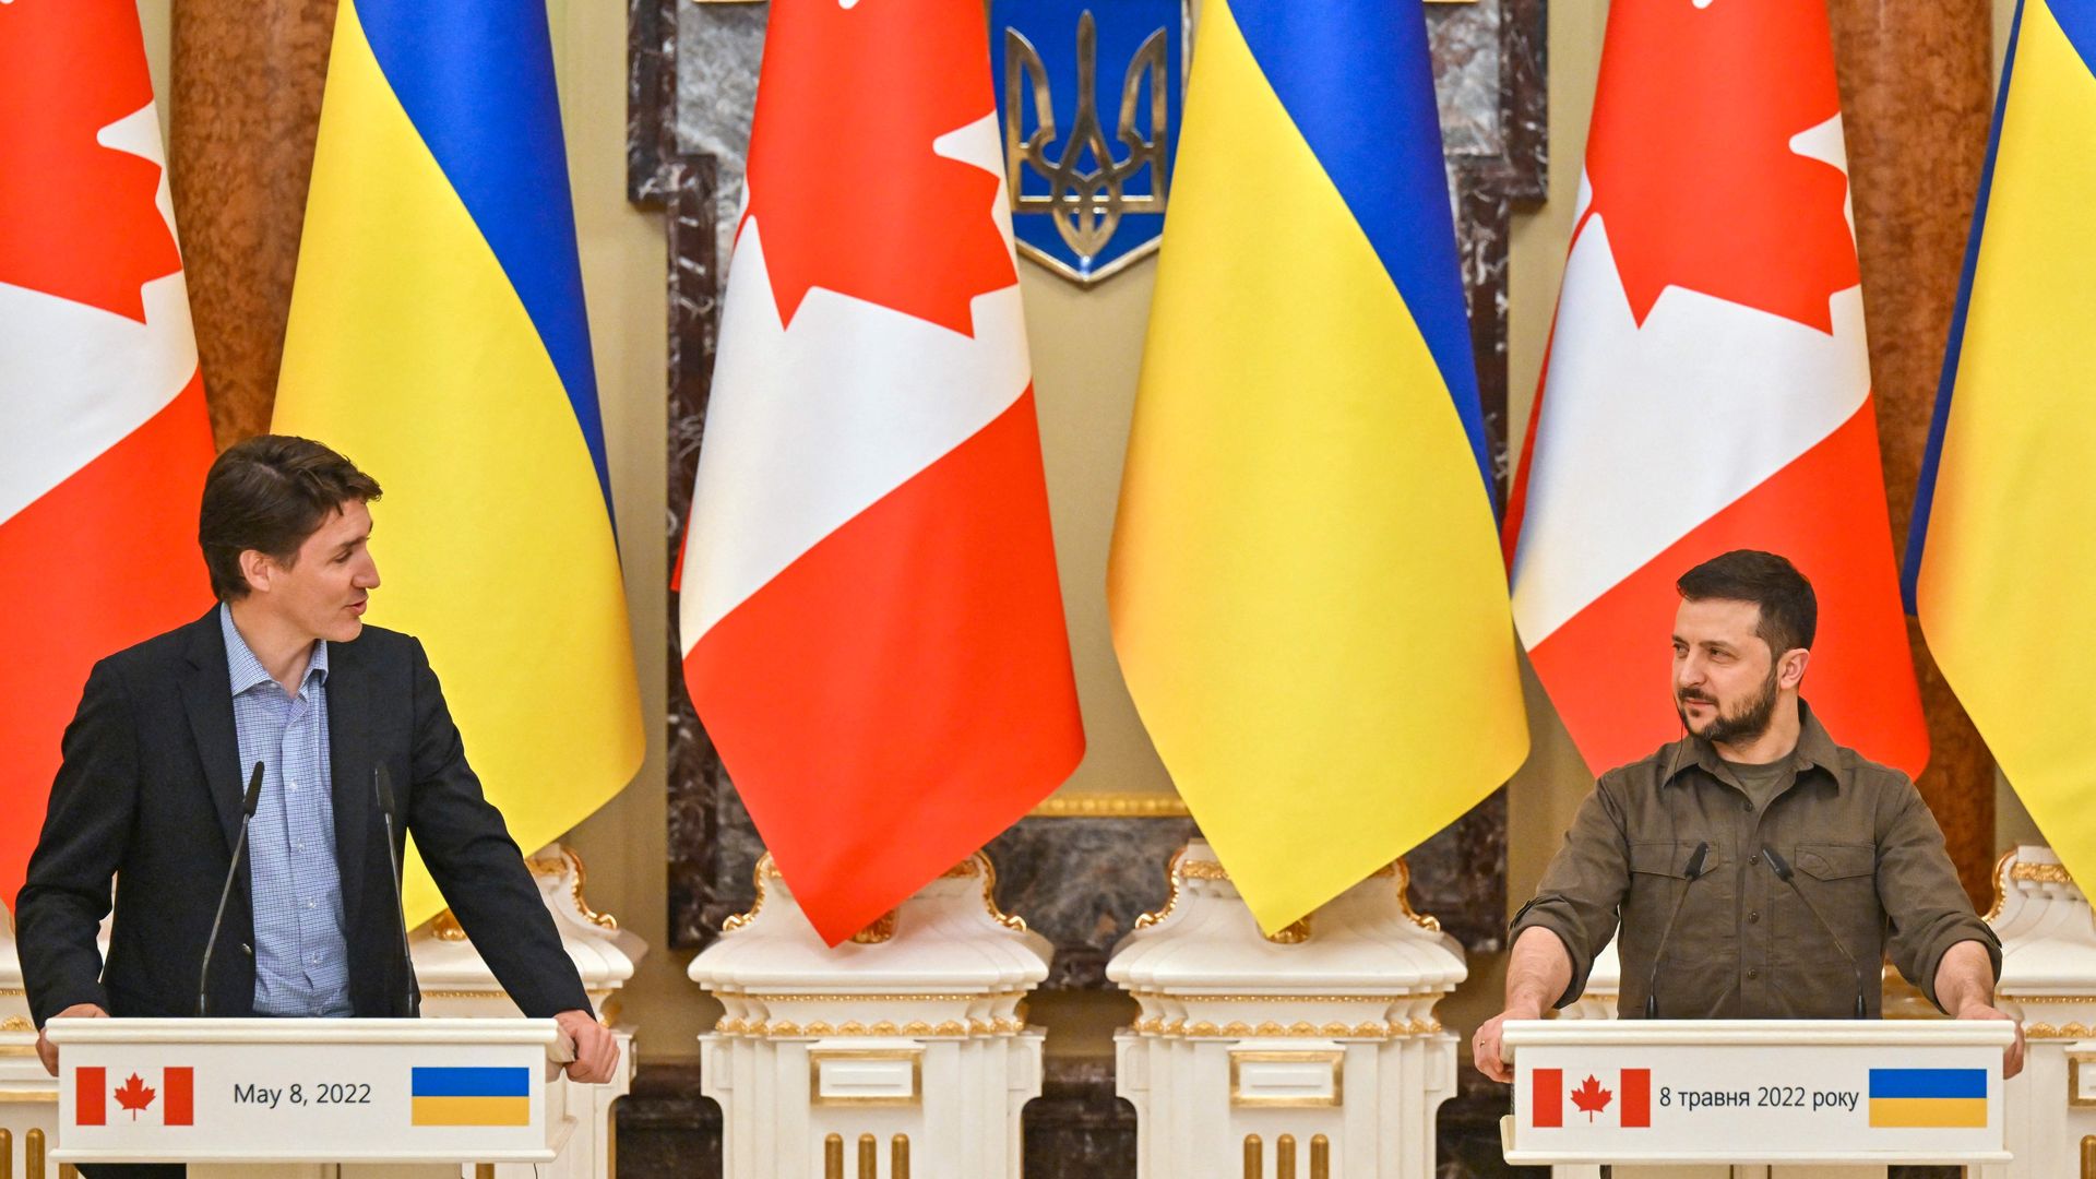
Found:
<path fill-rule="evenodd" d="M 1528 755 L 1419 0 L 1209 0 L 1109 594 L 1260 925 Z"/>

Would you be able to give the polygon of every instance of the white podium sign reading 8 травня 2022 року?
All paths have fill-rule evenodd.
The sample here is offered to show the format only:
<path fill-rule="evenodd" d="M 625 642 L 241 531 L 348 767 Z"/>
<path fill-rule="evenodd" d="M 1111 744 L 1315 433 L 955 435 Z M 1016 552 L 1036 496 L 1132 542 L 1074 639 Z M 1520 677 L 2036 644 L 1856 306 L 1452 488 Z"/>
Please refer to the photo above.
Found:
<path fill-rule="evenodd" d="M 2006 1162 L 2006 1022 L 1524 1020 L 1507 1162 Z"/>

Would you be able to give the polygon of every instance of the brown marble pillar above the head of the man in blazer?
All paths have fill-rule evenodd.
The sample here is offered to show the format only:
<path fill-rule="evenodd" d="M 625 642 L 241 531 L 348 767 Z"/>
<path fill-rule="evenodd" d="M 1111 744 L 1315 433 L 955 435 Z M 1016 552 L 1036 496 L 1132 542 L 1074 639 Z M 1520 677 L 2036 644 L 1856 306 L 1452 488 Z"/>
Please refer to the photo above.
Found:
<path fill-rule="evenodd" d="M 174 0 L 168 185 L 212 430 L 268 430 L 335 0 Z"/>

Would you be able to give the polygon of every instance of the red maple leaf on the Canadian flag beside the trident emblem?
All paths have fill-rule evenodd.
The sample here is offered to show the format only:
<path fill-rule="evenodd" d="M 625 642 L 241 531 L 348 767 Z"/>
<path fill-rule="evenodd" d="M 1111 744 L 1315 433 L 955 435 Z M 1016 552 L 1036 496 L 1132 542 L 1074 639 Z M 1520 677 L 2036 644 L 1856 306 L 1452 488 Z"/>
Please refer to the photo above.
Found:
<path fill-rule="evenodd" d="M 998 176 L 935 155 L 994 109 L 973 0 L 778 0 L 748 162 L 780 321 L 824 287 L 973 336 L 968 300 L 1019 281 Z"/>

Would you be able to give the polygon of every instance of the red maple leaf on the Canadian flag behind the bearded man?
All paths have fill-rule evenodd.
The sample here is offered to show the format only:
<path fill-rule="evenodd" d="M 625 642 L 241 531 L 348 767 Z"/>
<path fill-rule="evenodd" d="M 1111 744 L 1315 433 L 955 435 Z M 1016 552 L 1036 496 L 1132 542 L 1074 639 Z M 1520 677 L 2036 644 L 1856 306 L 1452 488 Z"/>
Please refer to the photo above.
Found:
<path fill-rule="evenodd" d="M 1849 178 L 1790 138 L 1840 113 L 1821 0 L 1610 8 L 1587 176 L 1639 323 L 1668 285 L 1832 331 Z"/>

